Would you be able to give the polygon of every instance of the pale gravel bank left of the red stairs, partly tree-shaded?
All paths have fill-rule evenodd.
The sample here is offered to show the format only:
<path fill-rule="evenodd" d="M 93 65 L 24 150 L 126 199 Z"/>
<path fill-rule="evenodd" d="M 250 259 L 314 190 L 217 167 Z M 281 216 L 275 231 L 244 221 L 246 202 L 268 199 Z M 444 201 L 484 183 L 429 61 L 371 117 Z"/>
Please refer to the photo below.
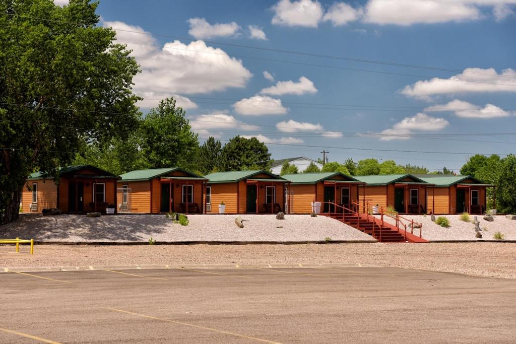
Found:
<path fill-rule="evenodd" d="M 242 215 L 244 228 L 235 225 L 235 215 L 189 215 L 188 226 L 173 223 L 165 215 L 24 215 L 0 227 L 4 238 L 34 238 L 37 241 L 376 241 L 340 221 L 309 215 Z M 282 226 L 282 228 L 277 228 Z"/>

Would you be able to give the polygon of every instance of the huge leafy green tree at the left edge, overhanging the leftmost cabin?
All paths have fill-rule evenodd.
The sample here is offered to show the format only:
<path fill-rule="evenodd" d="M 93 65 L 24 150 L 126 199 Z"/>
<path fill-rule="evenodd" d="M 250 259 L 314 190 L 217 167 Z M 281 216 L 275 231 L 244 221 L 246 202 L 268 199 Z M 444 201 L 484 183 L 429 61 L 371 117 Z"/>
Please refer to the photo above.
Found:
<path fill-rule="evenodd" d="M 140 116 L 131 90 L 138 65 L 98 25 L 97 6 L 0 1 L 0 223 L 18 217 L 31 172 L 57 175 L 85 138 L 108 141 Z"/>

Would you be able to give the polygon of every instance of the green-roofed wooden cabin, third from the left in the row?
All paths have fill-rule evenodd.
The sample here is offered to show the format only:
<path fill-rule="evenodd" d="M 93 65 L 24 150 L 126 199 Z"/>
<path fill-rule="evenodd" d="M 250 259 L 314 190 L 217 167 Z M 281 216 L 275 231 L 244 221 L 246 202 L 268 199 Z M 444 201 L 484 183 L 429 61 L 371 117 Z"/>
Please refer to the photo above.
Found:
<path fill-rule="evenodd" d="M 288 210 L 288 181 L 266 170 L 216 172 L 205 177 L 207 214 L 218 214 L 221 202 L 225 214 L 276 214 Z"/>

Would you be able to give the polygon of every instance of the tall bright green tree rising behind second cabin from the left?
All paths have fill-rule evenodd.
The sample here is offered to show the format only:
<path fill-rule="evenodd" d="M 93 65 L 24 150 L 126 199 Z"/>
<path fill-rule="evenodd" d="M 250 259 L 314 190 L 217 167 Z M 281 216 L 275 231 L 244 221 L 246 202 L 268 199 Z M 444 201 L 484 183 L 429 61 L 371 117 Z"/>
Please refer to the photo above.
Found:
<path fill-rule="evenodd" d="M 173 98 L 151 109 L 140 124 L 140 135 L 141 152 L 151 168 L 195 169 L 199 140 Z"/>

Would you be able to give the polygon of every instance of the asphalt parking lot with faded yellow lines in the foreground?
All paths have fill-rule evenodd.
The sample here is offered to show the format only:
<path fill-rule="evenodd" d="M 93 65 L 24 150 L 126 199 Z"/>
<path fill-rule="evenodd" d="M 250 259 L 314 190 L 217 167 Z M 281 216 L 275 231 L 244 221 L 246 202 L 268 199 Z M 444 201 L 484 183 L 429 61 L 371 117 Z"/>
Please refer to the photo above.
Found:
<path fill-rule="evenodd" d="M 0 274 L 0 343 L 515 342 L 516 281 L 373 267 Z"/>

